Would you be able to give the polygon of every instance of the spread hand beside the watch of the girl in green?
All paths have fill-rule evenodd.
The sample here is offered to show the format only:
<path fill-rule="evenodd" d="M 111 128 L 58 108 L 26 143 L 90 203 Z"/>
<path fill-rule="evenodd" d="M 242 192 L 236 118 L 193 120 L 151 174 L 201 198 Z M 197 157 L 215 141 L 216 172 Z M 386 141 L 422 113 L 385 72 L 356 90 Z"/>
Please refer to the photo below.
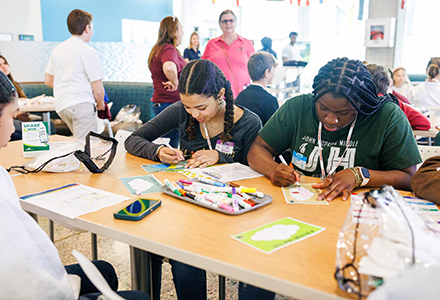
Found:
<path fill-rule="evenodd" d="M 315 189 L 324 189 L 318 196 L 318 200 L 332 201 L 342 194 L 342 200 L 346 201 L 351 191 L 356 186 L 356 178 L 350 170 L 342 170 L 323 182 L 312 185 Z"/>

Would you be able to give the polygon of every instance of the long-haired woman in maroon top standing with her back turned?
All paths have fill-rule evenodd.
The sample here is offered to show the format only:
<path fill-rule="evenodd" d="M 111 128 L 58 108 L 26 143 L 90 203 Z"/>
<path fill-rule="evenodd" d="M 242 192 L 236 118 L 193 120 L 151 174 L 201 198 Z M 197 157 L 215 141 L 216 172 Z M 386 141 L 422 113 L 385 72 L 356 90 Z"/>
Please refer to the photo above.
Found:
<path fill-rule="evenodd" d="M 180 100 L 177 86 L 185 61 L 177 50 L 182 43 L 182 24 L 176 17 L 166 17 L 160 22 L 159 36 L 148 57 L 148 67 L 153 79 L 153 111 L 158 115 L 169 105 Z M 173 130 L 164 137 L 171 139 L 170 145 L 178 147 L 179 132 Z"/>

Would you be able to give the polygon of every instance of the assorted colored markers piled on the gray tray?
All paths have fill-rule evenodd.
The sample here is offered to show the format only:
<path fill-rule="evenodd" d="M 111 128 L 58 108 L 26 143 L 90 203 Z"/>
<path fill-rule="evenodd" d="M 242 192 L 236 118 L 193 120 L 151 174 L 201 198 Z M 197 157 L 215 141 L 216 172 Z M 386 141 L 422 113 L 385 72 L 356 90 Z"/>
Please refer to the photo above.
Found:
<path fill-rule="evenodd" d="M 230 186 L 206 178 L 178 182 L 165 179 L 164 183 L 163 192 L 226 214 L 244 213 L 272 201 L 272 197 L 257 192 L 255 188 Z"/>

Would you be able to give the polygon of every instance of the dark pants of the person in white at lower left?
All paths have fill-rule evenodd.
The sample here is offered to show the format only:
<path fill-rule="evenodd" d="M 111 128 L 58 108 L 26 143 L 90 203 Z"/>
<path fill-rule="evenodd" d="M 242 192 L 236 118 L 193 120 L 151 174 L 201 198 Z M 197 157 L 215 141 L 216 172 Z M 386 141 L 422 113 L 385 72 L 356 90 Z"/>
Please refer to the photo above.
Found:
<path fill-rule="evenodd" d="M 98 268 L 102 276 L 104 276 L 105 281 L 107 281 L 110 288 L 114 291 L 118 289 L 118 277 L 116 275 L 115 269 L 111 264 L 102 260 L 92 261 L 95 267 Z M 89 280 L 84 271 L 79 264 L 65 266 L 67 274 L 78 275 L 81 278 L 81 290 L 79 292 L 80 300 L 94 300 L 101 295 L 98 289 Z M 138 291 L 122 291 L 118 294 L 124 299 L 128 300 L 149 300 L 150 297 L 147 294 Z"/>

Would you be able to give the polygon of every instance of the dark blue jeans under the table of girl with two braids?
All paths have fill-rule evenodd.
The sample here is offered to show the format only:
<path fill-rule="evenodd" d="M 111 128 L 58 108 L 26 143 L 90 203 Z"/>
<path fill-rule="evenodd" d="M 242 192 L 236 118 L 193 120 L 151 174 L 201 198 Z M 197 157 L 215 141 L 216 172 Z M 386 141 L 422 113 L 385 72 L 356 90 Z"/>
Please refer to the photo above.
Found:
<path fill-rule="evenodd" d="M 153 300 L 160 299 L 163 257 L 151 253 Z M 178 300 L 206 300 L 206 271 L 170 259 Z"/>

